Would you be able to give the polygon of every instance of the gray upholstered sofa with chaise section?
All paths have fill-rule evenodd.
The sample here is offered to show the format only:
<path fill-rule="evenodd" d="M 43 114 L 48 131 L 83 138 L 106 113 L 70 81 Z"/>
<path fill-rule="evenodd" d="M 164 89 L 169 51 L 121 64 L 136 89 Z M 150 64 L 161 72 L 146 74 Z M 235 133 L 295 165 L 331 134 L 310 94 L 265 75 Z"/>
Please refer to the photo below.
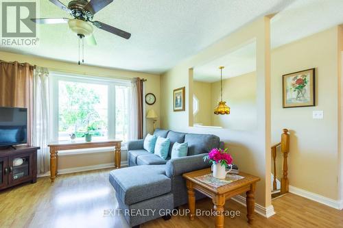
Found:
<path fill-rule="evenodd" d="M 128 142 L 128 168 L 110 172 L 110 183 L 122 210 L 170 210 L 188 202 L 186 181 L 182 174 L 208 168 L 203 157 L 213 148 L 223 148 L 220 138 L 210 134 L 187 134 L 177 131 L 156 129 L 154 135 L 169 138 L 171 144 L 167 160 L 143 149 L 144 140 Z M 175 142 L 188 142 L 187 157 L 170 159 L 171 147 Z M 204 195 L 196 192 L 196 199 Z M 148 220 L 161 217 L 130 216 L 124 214 L 129 225 L 134 227 Z"/>

